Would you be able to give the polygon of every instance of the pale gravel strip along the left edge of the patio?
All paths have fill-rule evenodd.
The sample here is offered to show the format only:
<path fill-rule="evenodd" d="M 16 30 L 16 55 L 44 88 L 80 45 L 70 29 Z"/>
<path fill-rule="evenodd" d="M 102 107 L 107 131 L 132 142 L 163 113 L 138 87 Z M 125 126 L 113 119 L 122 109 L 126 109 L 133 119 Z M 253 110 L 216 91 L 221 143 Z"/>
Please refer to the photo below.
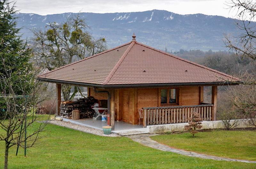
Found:
<path fill-rule="evenodd" d="M 43 122 L 45 123 L 46 121 L 43 121 Z M 103 133 L 103 130 L 98 130 L 98 129 L 94 129 L 94 128 L 91 128 L 91 127 L 82 126 L 82 125 L 74 124 L 74 123 L 70 123 L 70 122 L 64 122 L 64 121 L 59 121 L 59 120 L 49 120 L 48 123 L 58 125 L 58 126 L 62 126 L 62 127 L 66 127 L 66 128 L 69 128 L 69 129 L 82 131 L 82 132 L 89 133 L 89 134 L 98 135 L 98 136 L 120 137 L 120 135 L 118 135 L 116 133 L 111 133 L 111 134 L 107 135 L 107 134 Z"/>

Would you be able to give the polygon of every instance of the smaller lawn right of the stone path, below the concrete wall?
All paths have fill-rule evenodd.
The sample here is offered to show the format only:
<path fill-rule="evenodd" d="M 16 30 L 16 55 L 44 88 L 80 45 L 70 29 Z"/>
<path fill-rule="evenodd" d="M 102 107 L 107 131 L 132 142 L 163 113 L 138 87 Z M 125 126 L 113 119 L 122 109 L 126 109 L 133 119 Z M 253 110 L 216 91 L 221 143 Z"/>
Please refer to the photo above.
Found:
<path fill-rule="evenodd" d="M 153 136 L 151 139 L 174 148 L 198 153 L 256 161 L 256 130 L 227 131 L 214 130 L 190 133 Z"/>

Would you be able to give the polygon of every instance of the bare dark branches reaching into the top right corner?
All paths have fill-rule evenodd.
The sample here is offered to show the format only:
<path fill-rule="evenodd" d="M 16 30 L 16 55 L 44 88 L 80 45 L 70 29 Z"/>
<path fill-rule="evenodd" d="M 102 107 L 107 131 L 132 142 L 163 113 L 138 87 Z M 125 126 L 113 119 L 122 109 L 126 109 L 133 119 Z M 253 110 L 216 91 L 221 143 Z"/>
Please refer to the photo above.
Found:
<path fill-rule="evenodd" d="M 231 0 L 227 2 L 230 10 L 237 11 L 237 20 L 234 20 L 236 32 L 224 33 L 224 43 L 230 51 L 235 52 L 241 58 L 256 60 L 256 29 L 255 18 L 256 1 L 254 0 Z"/>

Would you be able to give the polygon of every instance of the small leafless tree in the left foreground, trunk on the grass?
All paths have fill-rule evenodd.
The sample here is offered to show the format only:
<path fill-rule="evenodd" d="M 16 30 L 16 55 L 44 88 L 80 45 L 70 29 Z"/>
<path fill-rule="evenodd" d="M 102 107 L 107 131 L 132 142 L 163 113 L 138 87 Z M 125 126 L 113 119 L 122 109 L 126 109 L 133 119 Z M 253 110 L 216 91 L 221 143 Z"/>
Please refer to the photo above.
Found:
<path fill-rule="evenodd" d="M 4 57 L 1 55 L 0 59 L 3 61 Z M 0 127 L 5 132 L 0 134 L 0 141 L 5 142 L 4 168 L 7 168 L 9 149 L 14 145 L 23 148 L 32 147 L 38 139 L 44 137 L 44 135 L 39 135 L 39 132 L 44 131 L 46 123 L 40 123 L 39 126 L 33 125 L 34 122 L 42 119 L 42 116 L 34 113 L 35 105 L 38 102 L 36 96 L 41 85 L 35 79 L 37 72 L 31 74 L 28 69 L 26 74 L 22 73 L 17 79 L 17 74 L 13 76 L 13 72 L 10 72 L 7 67 L 4 68 L 6 76 L 0 75 L 0 84 L 1 91 L 4 91 L 1 93 L 1 101 L 4 102 L 5 108 L 1 110 Z M 13 84 L 14 82 L 16 85 Z M 22 94 L 16 95 L 14 88 L 19 84 Z M 27 131 L 26 137 L 25 131 Z"/>

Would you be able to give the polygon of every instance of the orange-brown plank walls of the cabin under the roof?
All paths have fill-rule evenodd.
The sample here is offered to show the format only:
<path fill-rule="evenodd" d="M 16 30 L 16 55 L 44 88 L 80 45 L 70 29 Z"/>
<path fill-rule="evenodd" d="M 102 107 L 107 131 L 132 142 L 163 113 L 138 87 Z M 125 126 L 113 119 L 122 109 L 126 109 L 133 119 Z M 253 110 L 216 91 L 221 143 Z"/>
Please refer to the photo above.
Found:
<path fill-rule="evenodd" d="M 179 105 L 200 105 L 200 97 L 202 95 L 200 87 L 183 87 L 176 90 Z M 107 100 L 108 97 L 106 93 L 95 93 L 92 88 L 88 88 L 88 95 L 97 100 Z M 130 119 L 129 123 L 139 124 L 140 115 L 138 109 L 161 106 L 159 105 L 161 103 L 160 99 L 160 88 L 115 89 L 115 120 L 123 121 L 123 118 L 125 118 L 125 121 Z M 129 118 L 123 116 L 125 113 L 127 114 L 126 111 L 130 112 Z"/>

